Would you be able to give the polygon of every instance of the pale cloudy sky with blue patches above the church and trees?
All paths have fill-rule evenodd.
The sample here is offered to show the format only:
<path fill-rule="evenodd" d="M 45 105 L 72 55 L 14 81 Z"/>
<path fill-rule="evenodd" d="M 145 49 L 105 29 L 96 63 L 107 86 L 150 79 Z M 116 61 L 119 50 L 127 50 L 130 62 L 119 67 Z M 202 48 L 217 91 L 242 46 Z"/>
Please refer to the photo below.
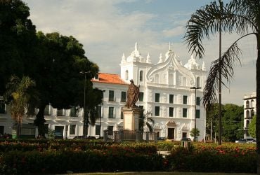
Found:
<path fill-rule="evenodd" d="M 138 43 L 143 57 L 148 53 L 152 63 L 171 50 L 186 64 L 190 59 L 183 42 L 190 16 L 210 0 L 23 0 L 30 7 L 30 19 L 37 31 L 59 32 L 74 36 L 84 45 L 86 57 L 98 64 L 100 72 L 120 73 L 122 55 L 128 57 Z M 227 3 L 228 0 L 224 0 Z M 203 59 L 209 71 L 219 55 L 219 36 L 204 39 Z M 222 50 L 238 38 L 222 35 Z M 249 36 L 239 43 L 241 64 L 235 64 L 235 76 L 222 87 L 223 104 L 242 105 L 245 94 L 256 91 L 256 38 Z"/>

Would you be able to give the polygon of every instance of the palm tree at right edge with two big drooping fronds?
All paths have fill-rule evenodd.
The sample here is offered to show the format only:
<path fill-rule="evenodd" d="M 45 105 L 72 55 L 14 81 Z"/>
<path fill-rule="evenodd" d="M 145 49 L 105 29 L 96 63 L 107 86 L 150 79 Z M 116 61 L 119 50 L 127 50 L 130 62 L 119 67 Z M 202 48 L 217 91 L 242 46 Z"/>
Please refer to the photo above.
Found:
<path fill-rule="evenodd" d="M 204 87 L 204 106 L 210 106 L 216 102 L 216 90 L 218 83 L 225 85 L 221 76 L 227 82 L 232 78 L 235 62 L 240 62 L 240 48 L 238 41 L 245 36 L 256 36 L 256 116 L 260 115 L 260 1 L 256 0 L 231 0 L 225 6 L 221 0 L 213 1 L 209 5 L 197 10 L 186 25 L 184 36 L 190 52 L 195 52 L 200 58 L 204 55 L 203 38 L 209 38 L 210 34 L 223 32 L 237 33 L 240 37 L 223 52 L 219 59 L 212 62 L 206 86 Z M 219 73 L 221 76 L 219 76 Z M 258 167 L 260 167 L 260 118 L 256 117 L 257 153 L 259 155 Z M 260 169 L 259 169 L 260 170 Z"/>

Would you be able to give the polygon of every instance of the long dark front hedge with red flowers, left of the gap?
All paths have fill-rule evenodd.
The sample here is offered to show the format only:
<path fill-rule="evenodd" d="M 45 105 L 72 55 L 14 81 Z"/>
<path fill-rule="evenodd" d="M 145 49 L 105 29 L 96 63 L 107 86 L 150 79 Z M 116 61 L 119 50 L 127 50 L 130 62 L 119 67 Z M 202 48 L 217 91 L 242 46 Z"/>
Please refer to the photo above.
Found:
<path fill-rule="evenodd" d="M 1 155 L 0 174 L 162 171 L 161 155 L 126 151 L 13 151 Z M 9 174 L 8 173 L 8 174 Z"/>

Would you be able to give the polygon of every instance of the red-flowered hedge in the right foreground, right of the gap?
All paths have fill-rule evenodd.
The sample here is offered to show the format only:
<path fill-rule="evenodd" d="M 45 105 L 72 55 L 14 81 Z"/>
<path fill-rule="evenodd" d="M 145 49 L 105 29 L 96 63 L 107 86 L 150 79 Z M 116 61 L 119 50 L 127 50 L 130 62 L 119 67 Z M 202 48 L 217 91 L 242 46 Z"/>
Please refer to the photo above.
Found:
<path fill-rule="evenodd" d="M 193 144 L 188 150 L 173 148 L 167 167 L 177 172 L 256 173 L 256 147 L 239 144 Z"/>

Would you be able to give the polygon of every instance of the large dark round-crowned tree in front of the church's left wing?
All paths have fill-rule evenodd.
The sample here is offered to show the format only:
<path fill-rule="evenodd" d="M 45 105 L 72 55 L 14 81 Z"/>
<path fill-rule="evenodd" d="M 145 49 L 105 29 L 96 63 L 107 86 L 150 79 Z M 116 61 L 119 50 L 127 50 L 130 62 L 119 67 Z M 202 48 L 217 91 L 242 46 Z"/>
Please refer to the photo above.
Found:
<path fill-rule="evenodd" d="M 83 45 L 73 36 L 37 33 L 39 52 L 35 69 L 28 72 L 37 83 L 39 90 L 39 112 L 34 124 L 39 127 L 39 134 L 44 135 L 44 109 L 51 104 L 57 109 L 70 109 L 71 106 L 84 105 L 84 76 L 86 73 L 86 93 L 92 97 L 92 83 L 98 66 L 86 58 Z M 100 97 L 101 99 L 101 97 Z M 93 109 L 96 100 L 86 101 L 88 109 Z M 100 102 L 97 102 L 100 104 Z"/>

